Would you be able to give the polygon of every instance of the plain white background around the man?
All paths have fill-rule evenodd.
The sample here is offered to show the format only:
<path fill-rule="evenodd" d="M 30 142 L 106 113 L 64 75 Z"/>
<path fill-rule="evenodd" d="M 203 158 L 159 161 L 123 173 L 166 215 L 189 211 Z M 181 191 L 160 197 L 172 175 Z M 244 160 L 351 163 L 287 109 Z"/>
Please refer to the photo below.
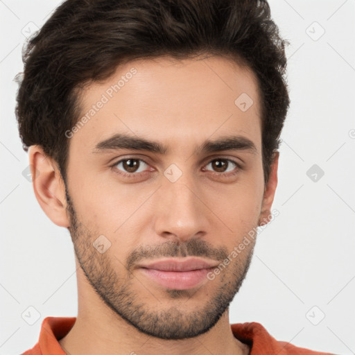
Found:
<path fill-rule="evenodd" d="M 46 217 L 22 175 L 28 155 L 14 114 L 22 32 L 32 31 L 29 22 L 42 26 L 59 3 L 0 1 L 0 354 L 33 347 L 46 316 L 77 315 L 69 232 Z M 280 215 L 259 233 L 230 322 L 260 322 L 277 340 L 354 354 L 355 1 L 272 0 L 270 7 L 291 42 L 291 108 L 273 204 Z M 324 171 L 317 182 L 306 174 L 313 164 Z M 33 325 L 21 318 L 28 306 L 40 313 Z"/>

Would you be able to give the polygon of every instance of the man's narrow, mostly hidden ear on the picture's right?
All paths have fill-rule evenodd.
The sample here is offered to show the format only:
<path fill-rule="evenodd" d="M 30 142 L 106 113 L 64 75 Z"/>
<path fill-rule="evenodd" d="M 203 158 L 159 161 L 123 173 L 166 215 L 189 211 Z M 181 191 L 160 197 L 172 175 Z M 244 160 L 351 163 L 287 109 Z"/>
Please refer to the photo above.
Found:
<path fill-rule="evenodd" d="M 279 152 L 274 153 L 274 159 L 270 168 L 270 178 L 263 193 L 263 203 L 261 206 L 261 214 L 259 216 L 258 225 L 266 225 L 272 218 L 271 206 L 275 197 L 277 187 L 277 167 L 279 166 Z"/>

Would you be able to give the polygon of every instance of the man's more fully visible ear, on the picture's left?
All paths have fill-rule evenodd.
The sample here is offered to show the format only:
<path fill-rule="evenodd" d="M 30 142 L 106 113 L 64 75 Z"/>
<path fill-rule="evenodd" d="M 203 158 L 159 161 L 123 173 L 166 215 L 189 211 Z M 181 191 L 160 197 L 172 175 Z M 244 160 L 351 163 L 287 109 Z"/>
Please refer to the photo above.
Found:
<path fill-rule="evenodd" d="M 60 227 L 69 227 L 65 186 L 58 164 L 40 146 L 28 151 L 33 191 L 44 213 Z"/>

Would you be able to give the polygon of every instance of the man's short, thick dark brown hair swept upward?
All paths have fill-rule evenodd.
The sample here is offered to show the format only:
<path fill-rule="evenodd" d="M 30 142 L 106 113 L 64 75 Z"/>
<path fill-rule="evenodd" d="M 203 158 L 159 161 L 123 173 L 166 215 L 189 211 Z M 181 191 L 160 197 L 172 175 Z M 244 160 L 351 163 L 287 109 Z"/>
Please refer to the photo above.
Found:
<path fill-rule="evenodd" d="M 24 49 L 16 116 L 24 146 L 38 144 L 66 181 L 69 138 L 79 119 L 76 89 L 108 78 L 119 64 L 201 53 L 246 63 L 261 92 L 262 155 L 267 183 L 290 104 L 286 55 L 267 1 L 68 0 Z"/>

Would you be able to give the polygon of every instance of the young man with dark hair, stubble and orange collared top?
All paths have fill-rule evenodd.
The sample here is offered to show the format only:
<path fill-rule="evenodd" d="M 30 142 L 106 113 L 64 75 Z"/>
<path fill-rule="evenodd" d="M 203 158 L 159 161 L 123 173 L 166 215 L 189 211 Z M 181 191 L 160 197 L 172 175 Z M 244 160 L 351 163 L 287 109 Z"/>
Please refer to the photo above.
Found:
<path fill-rule="evenodd" d="M 24 354 L 322 354 L 229 322 L 245 237 L 272 218 L 284 44 L 266 1 L 53 13 L 26 51 L 17 119 L 35 196 L 71 234 L 78 316 L 45 318 Z"/>

